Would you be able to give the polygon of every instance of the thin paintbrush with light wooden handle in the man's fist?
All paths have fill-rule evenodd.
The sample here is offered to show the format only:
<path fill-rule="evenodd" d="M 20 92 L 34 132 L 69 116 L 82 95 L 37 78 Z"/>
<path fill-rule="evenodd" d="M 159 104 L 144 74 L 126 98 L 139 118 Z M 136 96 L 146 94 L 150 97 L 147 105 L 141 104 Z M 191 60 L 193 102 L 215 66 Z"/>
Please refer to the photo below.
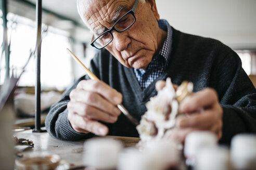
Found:
<path fill-rule="evenodd" d="M 84 68 L 86 74 L 89 76 L 89 78 L 93 79 L 93 80 L 99 80 L 98 77 L 96 77 L 68 48 L 67 51 L 70 53 L 70 55 L 73 57 L 73 59 L 75 59 L 75 61 L 77 61 L 80 65 L 82 65 L 82 67 Z M 129 114 L 129 112 L 125 109 L 125 107 L 120 104 L 117 105 L 118 108 L 123 112 L 123 114 L 126 116 L 126 118 L 128 118 L 133 124 L 138 125 L 139 122 L 136 118 L 134 118 L 132 115 Z"/>

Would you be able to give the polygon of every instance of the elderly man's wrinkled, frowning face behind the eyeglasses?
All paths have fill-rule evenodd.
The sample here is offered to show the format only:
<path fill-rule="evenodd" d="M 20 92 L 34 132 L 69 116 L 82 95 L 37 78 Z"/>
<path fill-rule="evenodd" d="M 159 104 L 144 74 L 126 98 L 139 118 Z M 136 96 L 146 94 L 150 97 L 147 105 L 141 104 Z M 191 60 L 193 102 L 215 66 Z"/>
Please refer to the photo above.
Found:
<path fill-rule="evenodd" d="M 79 8 L 94 37 L 97 37 L 132 9 L 134 3 L 135 0 L 83 0 Z M 113 40 L 105 48 L 124 66 L 146 69 L 162 41 L 155 1 L 139 3 L 135 17 L 136 22 L 126 31 L 112 32 Z"/>

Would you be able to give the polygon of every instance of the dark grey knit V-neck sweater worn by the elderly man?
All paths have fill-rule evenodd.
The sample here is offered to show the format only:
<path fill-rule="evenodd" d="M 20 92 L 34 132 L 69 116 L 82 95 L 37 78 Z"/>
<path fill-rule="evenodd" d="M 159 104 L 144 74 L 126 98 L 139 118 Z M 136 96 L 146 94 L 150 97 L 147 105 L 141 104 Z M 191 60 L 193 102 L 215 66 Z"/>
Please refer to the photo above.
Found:
<path fill-rule="evenodd" d="M 229 144 L 238 133 L 256 133 L 256 90 L 241 67 L 239 56 L 220 41 L 189 35 L 173 29 L 171 60 L 166 72 L 145 90 L 139 86 L 132 68 L 121 65 L 107 50 L 101 50 L 91 62 L 92 72 L 123 94 L 124 107 L 137 119 L 145 113 L 145 103 L 155 96 L 155 83 L 171 77 L 172 82 L 194 83 L 194 91 L 211 87 L 217 91 L 223 107 L 223 137 Z M 45 125 L 48 133 L 62 140 L 79 140 L 93 134 L 75 132 L 68 121 L 69 93 L 87 76 L 81 77 L 50 109 Z M 107 124 L 109 135 L 138 137 L 135 126 L 121 115 L 116 123 Z"/>

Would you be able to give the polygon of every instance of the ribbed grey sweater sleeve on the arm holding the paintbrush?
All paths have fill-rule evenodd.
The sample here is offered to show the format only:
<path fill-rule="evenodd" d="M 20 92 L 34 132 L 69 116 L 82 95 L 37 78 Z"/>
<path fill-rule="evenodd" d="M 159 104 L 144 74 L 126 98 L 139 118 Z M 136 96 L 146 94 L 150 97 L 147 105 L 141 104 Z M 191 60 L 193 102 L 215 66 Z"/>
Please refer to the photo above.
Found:
<path fill-rule="evenodd" d="M 98 74 L 97 69 L 97 61 L 96 57 L 91 61 L 91 71 L 96 74 Z M 46 117 L 45 120 L 45 126 L 47 132 L 61 140 L 80 140 L 80 139 L 86 139 L 91 138 L 94 136 L 92 133 L 84 134 L 84 133 L 78 133 L 76 132 L 72 126 L 69 123 L 68 120 L 68 108 L 67 104 L 70 101 L 69 94 L 70 92 L 76 88 L 78 83 L 81 80 L 89 79 L 88 76 L 81 77 L 78 81 L 76 81 L 72 87 L 70 87 L 68 90 L 66 90 L 60 99 L 58 103 L 53 105 Z"/>

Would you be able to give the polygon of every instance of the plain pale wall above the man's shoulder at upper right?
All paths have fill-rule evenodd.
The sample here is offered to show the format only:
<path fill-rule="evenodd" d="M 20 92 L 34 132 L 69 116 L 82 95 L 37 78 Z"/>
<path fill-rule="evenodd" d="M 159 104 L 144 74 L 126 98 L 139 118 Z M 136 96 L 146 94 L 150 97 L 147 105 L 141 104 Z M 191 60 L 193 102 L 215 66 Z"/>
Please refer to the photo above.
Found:
<path fill-rule="evenodd" d="M 255 0 L 156 0 L 161 19 L 177 30 L 256 49 Z"/>

